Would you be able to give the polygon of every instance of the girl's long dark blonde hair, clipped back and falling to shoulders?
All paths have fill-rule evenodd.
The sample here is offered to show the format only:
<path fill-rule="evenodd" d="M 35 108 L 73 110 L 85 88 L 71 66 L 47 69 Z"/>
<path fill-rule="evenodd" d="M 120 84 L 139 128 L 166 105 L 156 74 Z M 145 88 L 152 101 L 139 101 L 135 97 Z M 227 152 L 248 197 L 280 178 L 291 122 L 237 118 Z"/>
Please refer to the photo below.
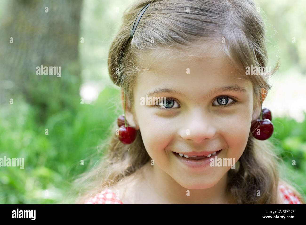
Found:
<path fill-rule="evenodd" d="M 141 17 L 133 37 L 129 38 L 137 14 L 149 2 L 151 5 Z M 225 42 L 222 43 L 222 40 Z M 264 22 L 251 0 L 140 0 L 123 14 L 123 24 L 110 46 L 109 74 L 112 81 L 125 90 L 127 107 L 133 112 L 133 84 L 137 74 L 145 68 L 145 53 L 153 55 L 169 50 L 169 57 L 175 57 L 173 51 L 185 57 L 195 57 L 211 51 L 213 46 L 214 50 L 224 53 L 234 66 L 265 68 L 266 42 Z M 271 75 L 278 67 L 279 60 Z M 260 112 L 259 90 L 271 89 L 267 82 L 268 74 L 245 76 L 253 85 L 253 112 Z M 84 186 L 86 183 L 89 190 L 80 194 L 78 203 L 84 203 L 89 196 L 113 186 L 151 160 L 139 130 L 136 140 L 125 145 L 115 134 L 116 128 L 118 126 L 114 121 L 110 127 L 112 135 L 108 139 L 109 144 L 105 145 L 108 151 L 100 165 L 76 179 L 76 184 Z M 274 145 L 268 140 L 255 139 L 250 131 L 244 153 L 239 159 L 240 165 L 228 171 L 227 191 L 231 203 L 281 203 L 277 186 L 279 183 L 289 185 L 288 181 L 279 177 L 280 164 L 277 159 L 281 160 L 274 153 Z M 290 186 L 290 189 L 304 203 L 295 188 Z M 258 190 L 260 196 L 257 196 Z"/>

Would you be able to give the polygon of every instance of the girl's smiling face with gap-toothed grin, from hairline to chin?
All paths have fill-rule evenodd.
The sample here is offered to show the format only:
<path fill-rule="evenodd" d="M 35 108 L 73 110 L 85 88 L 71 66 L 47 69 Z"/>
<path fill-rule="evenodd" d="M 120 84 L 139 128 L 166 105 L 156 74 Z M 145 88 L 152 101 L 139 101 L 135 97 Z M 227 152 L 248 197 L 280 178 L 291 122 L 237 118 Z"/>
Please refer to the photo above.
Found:
<path fill-rule="evenodd" d="M 240 76 L 243 72 L 220 56 L 192 61 L 159 58 L 150 70 L 138 74 L 133 89 L 135 123 L 154 167 L 188 189 L 206 189 L 220 181 L 230 165 L 192 168 L 174 152 L 222 149 L 217 158 L 239 160 L 253 110 L 252 83 Z M 144 105 L 146 95 L 148 104 L 150 97 L 166 97 L 166 102 Z M 166 104 L 162 108 L 158 103 Z"/>

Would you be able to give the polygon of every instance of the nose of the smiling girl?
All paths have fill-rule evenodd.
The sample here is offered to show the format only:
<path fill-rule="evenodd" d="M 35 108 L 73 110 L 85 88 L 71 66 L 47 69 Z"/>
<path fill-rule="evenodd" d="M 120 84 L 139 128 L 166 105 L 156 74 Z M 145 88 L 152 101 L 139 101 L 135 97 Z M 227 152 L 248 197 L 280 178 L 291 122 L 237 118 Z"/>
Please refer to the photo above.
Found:
<path fill-rule="evenodd" d="M 216 133 L 216 127 L 208 113 L 203 110 L 193 111 L 188 113 L 184 118 L 185 123 L 180 128 L 179 135 L 184 140 L 191 139 L 194 142 L 200 143 L 204 139 L 212 138 Z"/>

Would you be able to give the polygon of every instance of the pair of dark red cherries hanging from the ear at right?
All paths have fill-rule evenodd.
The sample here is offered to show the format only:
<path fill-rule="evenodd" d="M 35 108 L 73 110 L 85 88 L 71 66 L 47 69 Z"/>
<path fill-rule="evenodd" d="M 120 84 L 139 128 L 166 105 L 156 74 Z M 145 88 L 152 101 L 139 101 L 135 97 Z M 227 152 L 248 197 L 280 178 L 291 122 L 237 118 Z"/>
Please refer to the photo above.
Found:
<path fill-rule="evenodd" d="M 261 110 L 261 118 L 253 121 L 251 124 L 252 135 L 258 140 L 266 140 L 271 137 L 273 133 L 273 124 L 271 111 L 267 108 Z"/>

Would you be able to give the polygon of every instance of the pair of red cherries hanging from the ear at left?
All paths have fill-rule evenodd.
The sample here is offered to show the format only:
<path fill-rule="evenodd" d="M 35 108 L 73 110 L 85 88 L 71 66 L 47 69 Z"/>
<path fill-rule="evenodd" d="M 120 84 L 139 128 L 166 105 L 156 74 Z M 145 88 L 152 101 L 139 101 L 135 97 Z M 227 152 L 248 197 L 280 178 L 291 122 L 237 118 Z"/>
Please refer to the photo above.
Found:
<path fill-rule="evenodd" d="M 117 119 L 119 127 L 118 138 L 123 144 L 131 144 L 136 138 L 136 130 L 133 127 L 125 127 L 124 114 L 121 114 Z"/>

